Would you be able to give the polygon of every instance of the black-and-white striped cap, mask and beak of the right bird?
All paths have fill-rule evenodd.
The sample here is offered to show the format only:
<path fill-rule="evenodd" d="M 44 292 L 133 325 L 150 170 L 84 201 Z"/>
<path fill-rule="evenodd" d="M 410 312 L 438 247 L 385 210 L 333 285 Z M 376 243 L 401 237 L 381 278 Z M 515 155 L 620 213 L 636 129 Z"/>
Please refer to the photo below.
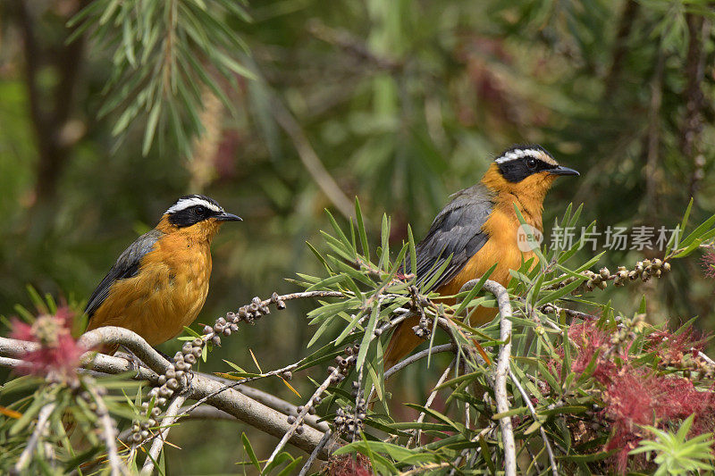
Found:
<path fill-rule="evenodd" d="M 531 175 L 546 172 L 547 175 L 578 175 L 578 172 L 561 167 L 542 146 L 513 146 L 494 159 L 502 177 L 512 183 L 520 182 Z"/>

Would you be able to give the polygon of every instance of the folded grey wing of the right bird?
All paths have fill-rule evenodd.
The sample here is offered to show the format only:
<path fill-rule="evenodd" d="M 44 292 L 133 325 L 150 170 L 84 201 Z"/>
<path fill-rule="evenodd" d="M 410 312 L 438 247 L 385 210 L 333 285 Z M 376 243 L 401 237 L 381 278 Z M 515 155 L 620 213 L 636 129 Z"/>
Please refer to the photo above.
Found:
<path fill-rule="evenodd" d="M 482 227 L 493 206 L 489 191 L 482 184 L 477 184 L 455 194 L 450 204 L 437 215 L 427 236 L 416 246 L 417 279 L 425 283 L 445 262 L 449 260 L 450 263 L 425 291 L 450 282 L 469 258 L 484 246 L 489 236 Z"/>

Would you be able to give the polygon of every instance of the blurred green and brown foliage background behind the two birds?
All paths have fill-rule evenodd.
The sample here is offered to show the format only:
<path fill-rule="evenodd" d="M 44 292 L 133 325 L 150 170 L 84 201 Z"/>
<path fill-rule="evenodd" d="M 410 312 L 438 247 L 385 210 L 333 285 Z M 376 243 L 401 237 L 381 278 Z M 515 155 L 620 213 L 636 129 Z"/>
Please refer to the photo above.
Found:
<path fill-rule="evenodd" d="M 600 230 L 674 228 L 690 196 L 693 222 L 715 209 L 711 2 L 175 0 L 139 14 L 152 3 L 0 4 L 0 314 L 29 305 L 28 284 L 81 304 L 176 197 L 201 192 L 245 220 L 214 243 L 198 322 L 213 321 L 319 269 L 305 241 L 321 243 L 325 207 L 345 219 L 359 196 L 368 236 L 384 212 L 396 244 L 408 223 L 419 238 L 513 143 L 582 173 L 547 198 L 547 238 L 570 201 Z M 644 254 L 661 255 L 611 251 L 602 264 Z M 607 292 L 634 312 L 646 294 L 652 322 L 697 315 L 715 330 L 700 264 L 673 271 Z M 306 309 L 290 305 L 219 352 L 249 366 L 249 347 L 264 369 L 293 362 Z M 204 370 L 221 370 L 213 362 Z M 422 398 L 438 367 L 405 372 L 396 398 Z M 234 424 L 196 425 L 239 442 Z M 170 450 L 172 472 L 236 470 L 240 455 L 196 426 L 174 438 L 203 456 L 179 467 Z"/>

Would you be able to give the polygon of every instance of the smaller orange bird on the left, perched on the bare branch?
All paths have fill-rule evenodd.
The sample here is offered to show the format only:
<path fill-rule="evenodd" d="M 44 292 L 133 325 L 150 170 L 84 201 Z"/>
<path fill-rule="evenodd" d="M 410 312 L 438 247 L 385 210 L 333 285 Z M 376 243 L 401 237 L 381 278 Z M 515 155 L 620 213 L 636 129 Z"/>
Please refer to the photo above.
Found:
<path fill-rule="evenodd" d="M 124 250 L 89 297 L 87 330 L 119 326 L 151 346 L 181 333 L 206 302 L 211 240 L 223 221 L 241 219 L 208 196 L 179 198 L 154 230 Z"/>

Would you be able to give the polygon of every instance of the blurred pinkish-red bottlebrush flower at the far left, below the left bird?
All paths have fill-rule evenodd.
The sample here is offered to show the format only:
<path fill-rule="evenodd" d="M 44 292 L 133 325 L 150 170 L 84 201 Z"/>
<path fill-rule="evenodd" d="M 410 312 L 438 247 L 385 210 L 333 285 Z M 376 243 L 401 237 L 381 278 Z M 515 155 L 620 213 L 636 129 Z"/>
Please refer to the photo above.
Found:
<path fill-rule="evenodd" d="M 62 307 L 55 314 L 43 314 L 31 325 L 13 320 L 12 338 L 36 342 L 39 347 L 22 355 L 20 372 L 68 379 L 76 375 L 80 356 L 86 349 L 71 336 L 72 313 Z"/>

